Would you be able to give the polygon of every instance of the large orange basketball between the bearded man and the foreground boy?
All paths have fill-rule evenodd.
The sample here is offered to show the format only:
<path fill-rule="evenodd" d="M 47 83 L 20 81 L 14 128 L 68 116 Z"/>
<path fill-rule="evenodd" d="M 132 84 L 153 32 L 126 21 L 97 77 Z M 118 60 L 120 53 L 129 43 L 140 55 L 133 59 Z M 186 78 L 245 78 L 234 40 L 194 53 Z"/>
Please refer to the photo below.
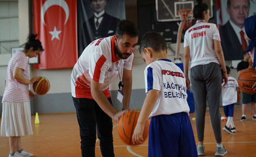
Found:
<path fill-rule="evenodd" d="M 124 113 L 118 120 L 117 132 L 120 139 L 128 145 L 134 145 L 132 141 L 134 128 L 137 124 L 137 120 L 140 112 L 136 110 L 129 110 Z M 145 129 L 143 132 L 143 139 L 145 140 L 148 136 L 149 123 L 146 121 Z M 136 145 L 136 144 L 135 144 Z"/>

